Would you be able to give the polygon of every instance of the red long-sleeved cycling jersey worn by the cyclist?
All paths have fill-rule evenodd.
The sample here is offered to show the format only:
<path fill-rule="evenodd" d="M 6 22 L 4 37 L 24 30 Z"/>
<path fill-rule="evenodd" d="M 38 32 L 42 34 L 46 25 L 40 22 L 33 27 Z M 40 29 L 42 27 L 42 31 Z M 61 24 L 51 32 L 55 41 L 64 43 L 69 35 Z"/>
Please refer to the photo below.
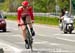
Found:
<path fill-rule="evenodd" d="M 28 14 L 31 18 L 31 20 L 34 20 L 34 16 L 33 16 L 33 10 L 32 10 L 32 7 L 29 6 L 26 10 L 23 10 L 23 7 L 20 6 L 18 9 L 17 9 L 17 20 L 18 20 L 18 23 L 20 23 L 20 20 L 22 18 L 22 15 L 24 14 Z"/>

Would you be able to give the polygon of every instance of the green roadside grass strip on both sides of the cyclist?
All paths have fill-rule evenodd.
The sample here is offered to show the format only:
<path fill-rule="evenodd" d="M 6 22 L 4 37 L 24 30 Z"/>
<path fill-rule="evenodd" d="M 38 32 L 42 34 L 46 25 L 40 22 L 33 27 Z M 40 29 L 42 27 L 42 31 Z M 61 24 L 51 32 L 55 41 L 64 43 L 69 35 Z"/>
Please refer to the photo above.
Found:
<path fill-rule="evenodd" d="M 8 20 L 17 20 L 17 16 L 7 16 Z M 46 25 L 58 25 L 58 18 L 56 17 L 35 17 L 35 23 L 46 24 Z"/>

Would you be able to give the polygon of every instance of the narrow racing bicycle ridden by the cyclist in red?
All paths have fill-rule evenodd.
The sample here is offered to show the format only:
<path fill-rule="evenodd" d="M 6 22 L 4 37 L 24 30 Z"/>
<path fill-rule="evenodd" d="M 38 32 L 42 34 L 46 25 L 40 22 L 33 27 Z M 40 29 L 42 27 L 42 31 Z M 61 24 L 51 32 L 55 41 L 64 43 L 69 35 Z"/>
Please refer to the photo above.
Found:
<path fill-rule="evenodd" d="M 22 20 L 24 22 L 24 25 L 26 26 L 26 38 L 27 38 L 27 41 L 28 41 L 28 47 L 31 48 L 31 51 L 33 51 L 32 50 L 33 39 L 32 39 L 32 34 L 31 34 L 30 27 L 28 25 L 28 24 L 31 24 L 31 23 L 26 22 L 26 16 Z"/>

